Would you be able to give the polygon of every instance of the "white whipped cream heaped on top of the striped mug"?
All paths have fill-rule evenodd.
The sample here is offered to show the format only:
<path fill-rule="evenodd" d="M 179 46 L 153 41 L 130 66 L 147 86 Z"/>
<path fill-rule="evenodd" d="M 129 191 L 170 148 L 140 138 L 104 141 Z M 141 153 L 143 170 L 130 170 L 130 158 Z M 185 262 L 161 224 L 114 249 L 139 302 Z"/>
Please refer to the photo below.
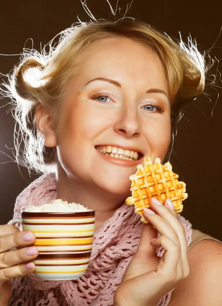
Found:
<path fill-rule="evenodd" d="M 54 200 L 42 206 L 29 206 L 25 212 L 31 213 L 76 213 L 87 212 L 87 207 L 77 203 L 68 203 L 61 199 Z"/>

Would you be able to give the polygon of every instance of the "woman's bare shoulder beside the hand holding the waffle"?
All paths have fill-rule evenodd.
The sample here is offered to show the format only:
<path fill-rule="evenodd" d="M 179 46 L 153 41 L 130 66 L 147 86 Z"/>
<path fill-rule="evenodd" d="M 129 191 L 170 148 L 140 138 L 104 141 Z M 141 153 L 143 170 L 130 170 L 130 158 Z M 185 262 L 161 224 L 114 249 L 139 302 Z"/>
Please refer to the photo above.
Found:
<path fill-rule="evenodd" d="M 205 239 L 188 253 L 189 276 L 172 293 L 169 306 L 222 304 L 222 243 Z"/>

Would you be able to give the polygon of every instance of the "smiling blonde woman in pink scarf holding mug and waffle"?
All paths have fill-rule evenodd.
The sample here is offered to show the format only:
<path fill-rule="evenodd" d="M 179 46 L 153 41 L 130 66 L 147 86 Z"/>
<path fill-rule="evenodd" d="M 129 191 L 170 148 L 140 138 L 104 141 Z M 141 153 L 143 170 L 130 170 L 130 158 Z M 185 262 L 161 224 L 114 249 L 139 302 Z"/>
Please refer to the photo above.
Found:
<path fill-rule="evenodd" d="M 46 173 L 18 196 L 14 217 L 55 198 L 95 209 L 92 257 L 77 281 L 40 281 L 31 274 L 37 250 L 24 247 L 33 235 L 2 225 L 2 304 L 219 305 L 220 242 L 199 235 L 190 244 L 191 224 L 169 199 L 151 200 L 144 226 L 124 204 L 136 165 L 144 156 L 163 162 L 181 107 L 202 94 L 203 58 L 138 21 L 63 34 L 49 54 L 24 55 L 8 86 L 24 159 Z M 23 248 L 8 252 L 15 246 Z"/>

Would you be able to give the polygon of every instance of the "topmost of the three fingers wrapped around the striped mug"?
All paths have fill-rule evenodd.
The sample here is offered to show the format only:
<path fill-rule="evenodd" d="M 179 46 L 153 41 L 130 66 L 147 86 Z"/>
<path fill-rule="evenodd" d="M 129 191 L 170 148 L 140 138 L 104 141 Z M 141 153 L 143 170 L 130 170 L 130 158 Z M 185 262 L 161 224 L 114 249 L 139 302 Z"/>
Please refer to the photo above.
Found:
<path fill-rule="evenodd" d="M 0 253 L 4 253 L 14 247 L 34 243 L 35 235 L 32 232 L 18 232 L 0 237 Z"/>

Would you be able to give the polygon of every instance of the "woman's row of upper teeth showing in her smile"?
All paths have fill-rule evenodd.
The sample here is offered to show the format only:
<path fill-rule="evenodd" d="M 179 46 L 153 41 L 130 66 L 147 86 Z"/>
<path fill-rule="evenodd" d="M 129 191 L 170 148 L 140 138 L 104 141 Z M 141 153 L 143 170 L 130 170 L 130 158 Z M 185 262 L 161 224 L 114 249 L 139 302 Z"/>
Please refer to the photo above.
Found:
<path fill-rule="evenodd" d="M 97 149 L 101 153 L 108 155 L 110 157 L 120 158 L 120 159 L 127 159 L 127 160 L 137 160 L 138 153 L 135 151 L 124 150 L 122 148 L 117 148 L 108 145 L 107 147 L 103 147 L 101 149 Z"/>

